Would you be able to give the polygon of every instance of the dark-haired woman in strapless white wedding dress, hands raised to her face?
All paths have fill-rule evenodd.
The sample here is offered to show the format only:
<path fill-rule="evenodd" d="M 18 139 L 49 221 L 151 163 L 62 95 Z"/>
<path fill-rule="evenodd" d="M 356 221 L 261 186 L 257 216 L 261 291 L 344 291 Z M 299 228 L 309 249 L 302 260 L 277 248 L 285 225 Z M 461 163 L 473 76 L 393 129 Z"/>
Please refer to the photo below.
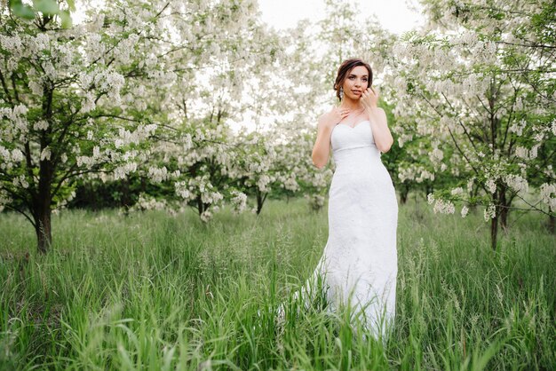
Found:
<path fill-rule="evenodd" d="M 319 118 L 314 165 L 326 165 L 331 148 L 336 166 L 329 192 L 329 237 L 301 292 L 310 295 L 309 288 L 320 278 L 330 310 L 350 304 L 364 328 L 385 341 L 395 314 L 398 203 L 380 160 L 393 138 L 371 83 L 369 64 L 344 61 L 334 83 L 339 107 Z"/>

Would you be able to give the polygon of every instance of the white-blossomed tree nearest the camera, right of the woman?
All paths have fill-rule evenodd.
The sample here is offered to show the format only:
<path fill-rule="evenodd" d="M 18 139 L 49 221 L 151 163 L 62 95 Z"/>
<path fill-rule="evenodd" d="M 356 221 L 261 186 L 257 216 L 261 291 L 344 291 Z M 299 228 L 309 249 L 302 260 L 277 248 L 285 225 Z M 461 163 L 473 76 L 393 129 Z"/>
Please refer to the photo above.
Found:
<path fill-rule="evenodd" d="M 462 202 L 465 217 L 468 205 L 484 205 L 496 249 L 510 209 L 556 210 L 556 5 L 422 4 L 428 25 L 393 48 L 394 114 L 409 142 L 430 141 L 435 172 L 461 179 L 429 194 L 435 211 L 453 213 Z"/>

